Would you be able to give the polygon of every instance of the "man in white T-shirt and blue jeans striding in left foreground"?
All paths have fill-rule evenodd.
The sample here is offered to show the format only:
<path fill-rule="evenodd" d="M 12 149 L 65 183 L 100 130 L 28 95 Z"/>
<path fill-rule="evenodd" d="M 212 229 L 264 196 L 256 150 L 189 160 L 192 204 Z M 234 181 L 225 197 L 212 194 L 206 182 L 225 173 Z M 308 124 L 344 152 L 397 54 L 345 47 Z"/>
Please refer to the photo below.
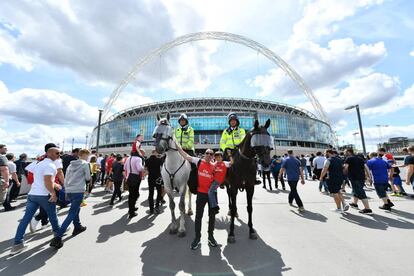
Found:
<path fill-rule="evenodd" d="M 57 169 L 54 161 L 59 158 L 59 154 L 57 147 L 51 147 L 47 150 L 46 158 L 43 161 L 28 168 L 33 173 L 34 181 L 27 196 L 26 211 L 17 227 L 14 245 L 10 251 L 10 255 L 16 255 L 27 248 L 24 244 L 24 233 L 39 207 L 42 207 L 46 211 L 53 232 L 56 233 L 60 229 L 56 215 L 57 196 L 54 191 L 57 185 L 55 183 Z"/>

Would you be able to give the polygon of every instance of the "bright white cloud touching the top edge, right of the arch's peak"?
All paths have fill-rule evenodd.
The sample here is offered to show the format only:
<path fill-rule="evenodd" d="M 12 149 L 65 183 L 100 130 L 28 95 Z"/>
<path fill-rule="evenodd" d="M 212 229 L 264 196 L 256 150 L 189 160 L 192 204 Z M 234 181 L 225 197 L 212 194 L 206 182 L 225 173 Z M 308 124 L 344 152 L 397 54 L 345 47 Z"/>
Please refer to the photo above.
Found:
<path fill-rule="evenodd" d="M 304 15 L 293 27 L 293 41 L 314 40 L 339 29 L 338 22 L 362 8 L 382 4 L 383 0 L 317 0 L 308 4 Z"/>

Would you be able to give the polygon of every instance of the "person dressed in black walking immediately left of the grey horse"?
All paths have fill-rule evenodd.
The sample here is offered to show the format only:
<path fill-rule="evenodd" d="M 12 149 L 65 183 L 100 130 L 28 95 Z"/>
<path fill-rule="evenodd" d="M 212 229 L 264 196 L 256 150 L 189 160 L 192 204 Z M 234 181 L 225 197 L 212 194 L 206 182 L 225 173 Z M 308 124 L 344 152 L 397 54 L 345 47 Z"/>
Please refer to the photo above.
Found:
<path fill-rule="evenodd" d="M 161 158 L 157 156 L 157 152 L 155 150 L 152 151 L 151 156 L 145 160 L 145 168 L 148 171 L 148 203 L 149 203 L 149 212 L 150 214 L 160 213 L 159 206 L 161 201 L 161 185 L 157 184 L 157 179 L 161 177 L 161 166 L 162 161 Z M 154 188 L 157 189 L 157 199 L 155 202 L 155 209 L 154 209 Z"/>

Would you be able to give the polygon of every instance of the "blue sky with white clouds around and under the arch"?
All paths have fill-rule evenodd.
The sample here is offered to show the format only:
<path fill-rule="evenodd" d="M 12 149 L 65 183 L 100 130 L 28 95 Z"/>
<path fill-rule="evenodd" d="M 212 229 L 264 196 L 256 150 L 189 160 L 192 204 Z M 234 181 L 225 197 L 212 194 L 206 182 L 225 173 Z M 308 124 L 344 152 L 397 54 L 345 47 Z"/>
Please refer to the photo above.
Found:
<path fill-rule="evenodd" d="M 414 137 L 413 10 L 414 2 L 402 0 L 2 1 L 0 143 L 31 154 L 72 137 L 84 145 L 97 109 L 138 59 L 207 30 L 249 37 L 287 61 L 314 91 L 340 144 L 354 142 L 356 114 L 343 109 L 357 103 L 369 148 L 381 138 Z M 211 41 L 182 45 L 148 64 L 112 111 L 198 96 L 315 112 L 266 58 Z"/>

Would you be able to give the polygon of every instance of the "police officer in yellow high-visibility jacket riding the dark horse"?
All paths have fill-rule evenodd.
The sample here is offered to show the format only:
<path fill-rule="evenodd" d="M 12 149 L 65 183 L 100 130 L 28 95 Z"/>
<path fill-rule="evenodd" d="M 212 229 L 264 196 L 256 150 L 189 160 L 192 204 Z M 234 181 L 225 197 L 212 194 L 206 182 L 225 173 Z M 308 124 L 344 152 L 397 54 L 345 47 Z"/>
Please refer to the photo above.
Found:
<path fill-rule="evenodd" d="M 225 159 L 229 160 L 229 156 L 238 149 L 239 144 L 246 136 L 246 131 L 240 128 L 239 117 L 236 113 L 229 113 L 227 121 L 229 122 L 229 127 L 221 135 L 220 149 L 225 153 Z"/>

